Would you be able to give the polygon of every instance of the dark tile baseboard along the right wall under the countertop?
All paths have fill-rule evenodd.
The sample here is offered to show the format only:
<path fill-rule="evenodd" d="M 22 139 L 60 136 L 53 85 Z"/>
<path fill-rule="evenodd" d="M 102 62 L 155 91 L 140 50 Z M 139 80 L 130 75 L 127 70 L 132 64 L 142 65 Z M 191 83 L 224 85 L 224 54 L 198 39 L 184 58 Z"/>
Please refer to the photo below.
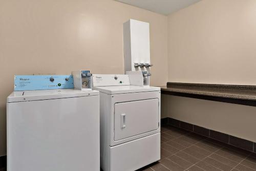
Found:
<path fill-rule="evenodd" d="M 247 151 L 256 153 L 256 142 L 248 141 L 242 138 L 234 137 L 228 134 L 224 134 L 221 132 L 217 132 L 214 130 L 206 129 L 205 127 L 197 126 L 191 123 L 183 122 L 173 118 L 162 118 L 161 124 L 169 124 L 175 127 L 179 127 L 180 129 L 187 130 L 190 132 L 194 132 L 196 134 L 203 135 L 205 137 L 215 139 L 221 141 L 223 143 L 236 146 L 239 148 L 243 148 Z"/>

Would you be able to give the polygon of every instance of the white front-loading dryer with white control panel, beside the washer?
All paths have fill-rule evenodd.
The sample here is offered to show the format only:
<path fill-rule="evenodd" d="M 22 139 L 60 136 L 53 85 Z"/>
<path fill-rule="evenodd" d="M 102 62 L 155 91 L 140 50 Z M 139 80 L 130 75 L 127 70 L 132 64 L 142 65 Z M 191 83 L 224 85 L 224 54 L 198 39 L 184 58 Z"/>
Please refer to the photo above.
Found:
<path fill-rule="evenodd" d="M 131 171 L 160 160 L 160 88 L 130 85 L 129 75 L 93 75 L 100 92 L 100 165 Z"/>

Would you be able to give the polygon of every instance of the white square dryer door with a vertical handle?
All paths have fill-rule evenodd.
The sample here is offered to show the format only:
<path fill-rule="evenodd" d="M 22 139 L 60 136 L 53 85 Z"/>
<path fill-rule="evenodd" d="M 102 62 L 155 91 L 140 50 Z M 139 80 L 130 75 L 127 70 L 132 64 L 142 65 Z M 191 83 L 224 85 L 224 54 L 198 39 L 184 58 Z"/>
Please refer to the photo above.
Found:
<path fill-rule="evenodd" d="M 116 103 L 114 140 L 157 130 L 158 108 L 158 98 Z"/>

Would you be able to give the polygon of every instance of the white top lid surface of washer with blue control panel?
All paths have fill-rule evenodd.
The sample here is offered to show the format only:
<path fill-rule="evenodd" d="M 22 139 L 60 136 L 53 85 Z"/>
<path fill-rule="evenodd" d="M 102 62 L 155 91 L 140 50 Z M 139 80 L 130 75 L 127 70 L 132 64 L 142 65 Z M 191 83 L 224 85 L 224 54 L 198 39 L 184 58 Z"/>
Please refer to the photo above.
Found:
<path fill-rule="evenodd" d="M 72 98 L 84 96 L 99 95 L 98 91 L 89 90 L 81 91 L 74 89 L 57 89 L 57 90 L 33 90 L 33 91 L 14 91 L 7 97 L 7 102 L 22 102 L 34 100 L 49 100 L 59 98 Z"/>

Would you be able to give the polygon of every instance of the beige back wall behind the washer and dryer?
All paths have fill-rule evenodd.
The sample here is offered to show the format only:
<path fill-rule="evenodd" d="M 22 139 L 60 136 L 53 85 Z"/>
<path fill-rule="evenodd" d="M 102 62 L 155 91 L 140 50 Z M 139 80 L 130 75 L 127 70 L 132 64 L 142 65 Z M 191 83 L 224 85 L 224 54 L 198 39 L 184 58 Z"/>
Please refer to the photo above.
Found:
<path fill-rule="evenodd" d="M 123 74 L 122 24 L 130 18 L 150 23 L 151 83 L 165 84 L 167 16 L 112 0 L 0 0 L 0 156 L 14 74 Z"/>

